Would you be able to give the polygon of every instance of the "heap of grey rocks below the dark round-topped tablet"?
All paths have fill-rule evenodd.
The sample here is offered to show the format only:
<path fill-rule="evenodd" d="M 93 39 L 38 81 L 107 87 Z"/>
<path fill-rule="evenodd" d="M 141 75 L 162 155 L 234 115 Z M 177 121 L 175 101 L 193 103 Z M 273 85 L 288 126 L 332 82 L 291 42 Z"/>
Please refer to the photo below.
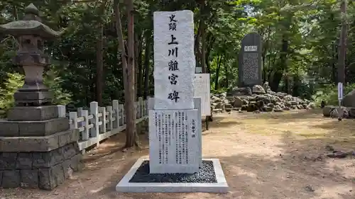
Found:
<path fill-rule="evenodd" d="M 271 91 L 268 83 L 253 88 L 234 88 L 229 93 L 211 95 L 211 108 L 214 113 L 231 110 L 283 112 L 283 110 L 315 108 L 314 103 L 287 93 Z"/>

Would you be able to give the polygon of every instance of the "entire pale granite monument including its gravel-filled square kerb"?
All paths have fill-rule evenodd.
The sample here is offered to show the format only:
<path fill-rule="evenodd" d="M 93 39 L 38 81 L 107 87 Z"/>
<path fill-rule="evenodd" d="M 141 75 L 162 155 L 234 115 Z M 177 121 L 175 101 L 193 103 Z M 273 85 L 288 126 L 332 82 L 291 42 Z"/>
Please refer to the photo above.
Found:
<path fill-rule="evenodd" d="M 202 160 L 201 98 L 194 98 L 192 11 L 154 13 L 155 96 L 148 100 L 149 159 L 138 159 L 119 192 L 227 191 L 218 159 Z"/>

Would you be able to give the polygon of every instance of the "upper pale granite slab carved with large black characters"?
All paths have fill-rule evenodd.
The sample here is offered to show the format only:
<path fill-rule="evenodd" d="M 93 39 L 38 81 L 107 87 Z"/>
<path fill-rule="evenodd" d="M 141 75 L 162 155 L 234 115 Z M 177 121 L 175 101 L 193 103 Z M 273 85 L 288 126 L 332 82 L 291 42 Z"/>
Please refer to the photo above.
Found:
<path fill-rule="evenodd" d="M 194 108 L 192 11 L 154 12 L 154 109 Z"/>

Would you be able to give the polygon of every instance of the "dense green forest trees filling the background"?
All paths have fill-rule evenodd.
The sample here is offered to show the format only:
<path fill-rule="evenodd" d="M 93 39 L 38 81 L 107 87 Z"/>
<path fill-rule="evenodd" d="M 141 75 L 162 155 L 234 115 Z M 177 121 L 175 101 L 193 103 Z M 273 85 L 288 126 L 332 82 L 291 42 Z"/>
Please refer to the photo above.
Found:
<path fill-rule="evenodd" d="M 214 92 L 236 86 L 241 39 L 246 33 L 257 32 L 263 40 L 263 81 L 268 81 L 273 91 L 306 98 L 322 96 L 331 101 L 324 93 L 334 91 L 338 81 L 339 36 L 344 18 L 348 25 L 345 81 L 349 88 L 354 87 L 353 1 L 348 4 L 346 16 L 341 14 L 341 2 L 334 0 L 136 0 L 132 1 L 133 8 L 125 2 L 5 0 L 0 2 L 0 23 L 21 19 L 23 8 L 33 3 L 44 23 L 54 30 L 65 30 L 60 40 L 46 45 L 53 60 L 46 69 L 46 82 L 55 92 L 55 103 L 88 106 L 90 101 L 102 105 L 113 99 L 124 101 L 124 59 L 116 5 L 128 53 L 129 13 L 134 16 L 131 41 L 136 96 L 153 95 L 153 12 L 182 9 L 195 13 L 196 63 L 211 74 Z M 4 110 L 10 106 L 16 85 L 21 85 L 22 72 L 11 63 L 17 50 L 16 39 L 0 35 L 0 42 L 0 109 Z"/>

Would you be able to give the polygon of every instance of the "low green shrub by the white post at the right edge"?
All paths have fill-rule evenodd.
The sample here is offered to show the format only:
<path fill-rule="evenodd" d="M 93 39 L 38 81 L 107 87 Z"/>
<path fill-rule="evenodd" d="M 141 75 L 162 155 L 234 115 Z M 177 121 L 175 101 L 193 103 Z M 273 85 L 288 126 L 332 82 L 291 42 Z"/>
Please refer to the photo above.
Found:
<path fill-rule="evenodd" d="M 355 89 L 355 84 L 349 84 L 344 86 L 344 95 Z M 331 84 L 318 89 L 312 96 L 317 106 L 320 106 L 321 101 L 324 101 L 327 105 L 338 105 L 338 89 L 337 85 Z"/>

